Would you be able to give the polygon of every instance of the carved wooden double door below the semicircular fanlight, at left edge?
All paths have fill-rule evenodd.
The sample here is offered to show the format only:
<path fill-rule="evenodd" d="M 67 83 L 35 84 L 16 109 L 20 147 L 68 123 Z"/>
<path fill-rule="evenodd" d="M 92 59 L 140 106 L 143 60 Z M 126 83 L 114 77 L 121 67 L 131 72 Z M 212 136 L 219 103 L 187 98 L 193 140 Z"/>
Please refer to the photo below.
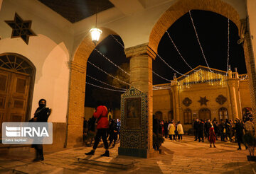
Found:
<path fill-rule="evenodd" d="M 0 69 L 0 123 L 25 121 L 31 77 Z"/>

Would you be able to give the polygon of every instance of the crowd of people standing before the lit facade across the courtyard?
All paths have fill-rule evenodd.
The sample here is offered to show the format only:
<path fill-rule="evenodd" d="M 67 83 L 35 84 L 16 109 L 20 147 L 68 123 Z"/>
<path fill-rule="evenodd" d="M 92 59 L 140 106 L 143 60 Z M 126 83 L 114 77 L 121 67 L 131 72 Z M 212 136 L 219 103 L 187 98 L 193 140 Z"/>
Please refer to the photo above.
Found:
<path fill-rule="evenodd" d="M 153 115 L 153 132 L 154 134 L 170 139 L 171 141 L 182 141 L 183 127 L 181 122 L 175 122 L 171 120 L 169 122 L 164 120 L 158 120 Z M 216 147 L 215 141 L 220 138 L 220 141 L 226 142 L 237 142 L 238 150 L 242 150 L 241 144 L 243 144 L 242 137 L 245 133 L 250 132 L 255 134 L 255 125 L 253 123 L 252 115 L 250 110 L 245 112 L 242 120 L 236 118 L 233 120 L 220 119 L 218 120 L 193 120 L 193 133 L 195 141 L 204 142 L 209 141 L 210 147 Z M 154 144 L 154 149 L 159 149 Z M 245 149 L 247 146 L 245 145 Z"/>

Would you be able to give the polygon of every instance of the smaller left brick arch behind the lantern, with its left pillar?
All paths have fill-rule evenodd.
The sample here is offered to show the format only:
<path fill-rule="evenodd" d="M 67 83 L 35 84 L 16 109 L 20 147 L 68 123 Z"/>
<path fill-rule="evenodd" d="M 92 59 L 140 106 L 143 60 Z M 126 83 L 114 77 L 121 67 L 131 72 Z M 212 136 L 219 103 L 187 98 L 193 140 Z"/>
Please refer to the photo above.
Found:
<path fill-rule="evenodd" d="M 102 35 L 99 44 L 108 35 L 117 35 L 114 31 L 107 28 L 100 28 Z M 65 147 L 82 145 L 82 127 L 85 104 L 85 80 L 87 59 L 94 50 L 95 45 L 91 40 L 90 33 L 80 43 L 73 61 L 70 62 L 70 85 L 68 98 L 68 115 L 65 137 Z"/>

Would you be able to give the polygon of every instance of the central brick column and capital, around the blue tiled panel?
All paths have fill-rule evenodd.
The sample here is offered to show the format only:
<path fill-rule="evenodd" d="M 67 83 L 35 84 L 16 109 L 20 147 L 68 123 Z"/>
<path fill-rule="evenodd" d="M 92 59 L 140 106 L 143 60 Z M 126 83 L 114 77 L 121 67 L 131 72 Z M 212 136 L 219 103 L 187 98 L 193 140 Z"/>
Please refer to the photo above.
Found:
<path fill-rule="evenodd" d="M 125 50 L 130 59 L 130 84 L 148 95 L 148 147 L 153 149 L 153 84 L 152 84 L 152 58 L 149 56 L 148 43 L 130 47 Z"/>

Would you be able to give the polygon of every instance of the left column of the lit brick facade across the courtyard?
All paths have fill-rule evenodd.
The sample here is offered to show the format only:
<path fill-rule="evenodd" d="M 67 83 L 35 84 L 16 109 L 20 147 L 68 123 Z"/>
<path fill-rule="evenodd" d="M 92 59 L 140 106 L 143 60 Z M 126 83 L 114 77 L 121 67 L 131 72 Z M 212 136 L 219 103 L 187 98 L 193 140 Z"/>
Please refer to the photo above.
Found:
<path fill-rule="evenodd" d="M 180 121 L 180 110 L 179 110 L 179 100 L 178 100 L 178 83 L 177 79 L 174 78 L 174 81 L 171 81 L 171 92 L 173 93 L 173 102 L 174 102 L 174 120 Z"/>

